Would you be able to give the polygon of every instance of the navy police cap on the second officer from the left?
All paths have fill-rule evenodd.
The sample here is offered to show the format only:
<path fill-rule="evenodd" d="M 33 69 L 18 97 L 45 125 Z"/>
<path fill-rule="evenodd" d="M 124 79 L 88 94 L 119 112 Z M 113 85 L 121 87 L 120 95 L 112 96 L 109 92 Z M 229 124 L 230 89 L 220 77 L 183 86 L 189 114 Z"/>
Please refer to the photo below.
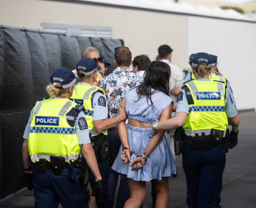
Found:
<path fill-rule="evenodd" d="M 91 58 L 83 58 L 76 65 L 76 72 L 85 72 L 86 76 L 90 76 L 99 70 L 101 70 L 101 67 L 96 65 Z"/>

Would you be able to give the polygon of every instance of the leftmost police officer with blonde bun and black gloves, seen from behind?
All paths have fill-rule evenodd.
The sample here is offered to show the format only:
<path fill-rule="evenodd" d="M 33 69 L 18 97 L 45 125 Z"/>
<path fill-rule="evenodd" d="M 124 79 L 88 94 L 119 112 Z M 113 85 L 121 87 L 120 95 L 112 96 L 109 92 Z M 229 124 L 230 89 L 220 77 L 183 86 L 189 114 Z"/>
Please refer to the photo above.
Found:
<path fill-rule="evenodd" d="M 82 155 L 95 176 L 96 197 L 104 194 L 84 108 L 69 99 L 78 80 L 70 69 L 56 69 L 46 89 L 50 97 L 39 100 L 31 111 L 22 158 L 26 186 L 34 188 L 35 208 L 57 208 L 59 203 L 63 208 L 84 206 L 85 186 L 80 182 Z M 74 169 L 78 159 L 80 166 Z M 69 178 L 74 170 L 74 178 Z"/>

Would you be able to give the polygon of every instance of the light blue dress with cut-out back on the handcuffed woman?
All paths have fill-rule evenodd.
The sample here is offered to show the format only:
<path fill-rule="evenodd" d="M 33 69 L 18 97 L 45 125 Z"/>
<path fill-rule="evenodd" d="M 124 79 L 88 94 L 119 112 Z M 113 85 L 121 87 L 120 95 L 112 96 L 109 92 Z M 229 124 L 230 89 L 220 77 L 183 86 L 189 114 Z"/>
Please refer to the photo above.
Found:
<path fill-rule="evenodd" d="M 136 102 L 139 99 L 136 89 L 136 87 L 131 88 L 126 92 L 126 113 L 128 119 L 153 124 L 159 120 L 163 110 L 173 102 L 168 95 L 165 95 L 161 91 L 156 91 L 152 95 L 151 99 L 154 107 L 151 106 L 150 100 L 147 100 L 145 96 Z M 128 124 L 127 134 L 130 149 L 136 154 L 142 154 L 152 139 L 152 133 L 152 128 L 136 128 Z M 150 181 L 152 179 L 161 180 L 162 177 L 169 177 L 173 173 L 176 174 L 174 159 L 165 135 L 163 135 L 160 143 L 150 154 L 143 168 L 132 170 L 129 162 L 121 163 L 120 156 L 122 151 L 123 146 L 121 145 L 112 169 L 118 173 L 127 175 L 127 178 L 136 181 Z M 131 162 L 135 158 L 137 156 L 133 154 L 131 156 Z"/>

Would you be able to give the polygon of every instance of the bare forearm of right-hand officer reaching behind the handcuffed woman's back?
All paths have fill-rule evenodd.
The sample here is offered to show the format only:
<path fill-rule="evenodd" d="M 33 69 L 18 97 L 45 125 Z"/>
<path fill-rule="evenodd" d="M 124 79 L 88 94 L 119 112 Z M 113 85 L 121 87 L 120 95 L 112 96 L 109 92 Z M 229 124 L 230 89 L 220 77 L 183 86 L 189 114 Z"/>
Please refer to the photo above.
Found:
<path fill-rule="evenodd" d="M 157 123 L 158 130 L 176 129 L 185 124 L 187 119 L 187 113 L 178 112 L 175 117 L 168 119 L 166 121 L 160 121 Z"/>

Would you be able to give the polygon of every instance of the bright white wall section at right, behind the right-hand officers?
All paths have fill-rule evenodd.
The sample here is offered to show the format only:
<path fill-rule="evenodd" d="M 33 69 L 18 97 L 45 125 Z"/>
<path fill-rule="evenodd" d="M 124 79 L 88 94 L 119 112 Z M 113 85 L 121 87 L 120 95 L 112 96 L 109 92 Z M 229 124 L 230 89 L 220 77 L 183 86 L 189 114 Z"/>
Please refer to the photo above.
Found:
<path fill-rule="evenodd" d="M 207 52 L 218 56 L 238 110 L 256 108 L 256 23 L 189 17 L 188 56 Z"/>

